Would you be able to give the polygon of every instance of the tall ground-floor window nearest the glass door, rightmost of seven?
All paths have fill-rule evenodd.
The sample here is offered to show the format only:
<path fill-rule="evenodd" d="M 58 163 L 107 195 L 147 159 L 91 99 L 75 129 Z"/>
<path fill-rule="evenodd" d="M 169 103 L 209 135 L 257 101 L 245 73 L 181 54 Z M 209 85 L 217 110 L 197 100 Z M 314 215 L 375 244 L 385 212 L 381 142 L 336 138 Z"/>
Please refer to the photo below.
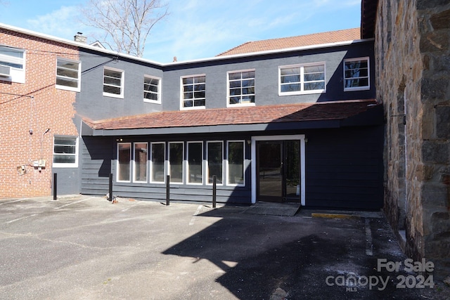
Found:
<path fill-rule="evenodd" d="M 227 141 L 226 145 L 226 184 L 243 186 L 245 141 Z"/>

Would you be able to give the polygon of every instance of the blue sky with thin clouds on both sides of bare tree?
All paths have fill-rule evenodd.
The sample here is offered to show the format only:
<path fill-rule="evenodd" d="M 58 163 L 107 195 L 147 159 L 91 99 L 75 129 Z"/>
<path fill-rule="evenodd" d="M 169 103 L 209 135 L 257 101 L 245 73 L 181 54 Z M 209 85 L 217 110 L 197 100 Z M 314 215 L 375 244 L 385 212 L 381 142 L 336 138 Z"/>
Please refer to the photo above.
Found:
<path fill-rule="evenodd" d="M 166 0 L 143 58 L 169 63 L 210 58 L 246 41 L 360 26 L 361 0 Z M 0 0 L 0 22 L 63 39 L 95 30 L 79 22 L 86 0 Z"/>

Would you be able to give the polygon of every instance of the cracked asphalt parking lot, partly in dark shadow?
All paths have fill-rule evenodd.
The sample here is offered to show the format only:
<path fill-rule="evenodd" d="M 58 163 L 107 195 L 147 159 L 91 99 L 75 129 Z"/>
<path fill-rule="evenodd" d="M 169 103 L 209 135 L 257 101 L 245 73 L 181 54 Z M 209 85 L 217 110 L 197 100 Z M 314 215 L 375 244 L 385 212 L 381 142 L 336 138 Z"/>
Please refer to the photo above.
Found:
<path fill-rule="evenodd" d="M 0 245 L 0 299 L 450 299 L 380 212 L 17 198 Z"/>

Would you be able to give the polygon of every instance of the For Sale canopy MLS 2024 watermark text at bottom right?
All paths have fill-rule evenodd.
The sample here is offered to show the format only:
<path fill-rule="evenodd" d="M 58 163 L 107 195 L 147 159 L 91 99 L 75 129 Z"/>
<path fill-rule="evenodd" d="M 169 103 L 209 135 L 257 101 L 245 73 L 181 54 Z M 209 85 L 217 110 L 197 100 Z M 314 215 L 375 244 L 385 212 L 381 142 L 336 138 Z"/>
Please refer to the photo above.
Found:
<path fill-rule="evenodd" d="M 392 280 L 397 278 L 397 289 L 424 289 L 425 287 L 435 287 L 433 281 L 433 275 L 422 275 L 422 273 L 431 273 L 435 270 L 435 264 L 432 261 L 413 261 L 412 259 L 405 259 L 404 261 L 387 261 L 387 259 L 378 259 L 377 268 L 378 272 L 386 270 L 387 272 L 399 272 L 401 266 L 404 266 L 404 271 L 407 273 L 414 272 L 420 275 L 397 275 L 392 276 Z M 426 277 L 425 277 L 426 276 Z M 356 275 L 355 273 L 347 273 L 346 275 L 333 276 L 330 275 L 326 278 L 326 285 L 329 287 L 338 286 L 345 287 L 346 292 L 357 292 L 358 288 L 378 289 L 383 291 L 387 287 L 387 283 L 391 280 L 391 276 L 382 275 Z"/>

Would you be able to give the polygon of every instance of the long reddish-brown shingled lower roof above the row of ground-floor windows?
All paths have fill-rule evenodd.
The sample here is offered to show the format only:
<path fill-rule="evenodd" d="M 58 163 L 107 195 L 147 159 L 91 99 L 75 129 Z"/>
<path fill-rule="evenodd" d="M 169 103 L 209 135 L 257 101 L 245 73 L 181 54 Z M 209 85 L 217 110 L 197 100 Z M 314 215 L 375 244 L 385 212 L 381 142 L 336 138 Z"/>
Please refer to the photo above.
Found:
<path fill-rule="evenodd" d="M 266 124 L 347 119 L 365 112 L 376 100 L 345 100 L 327 103 L 301 103 L 253 107 L 153 112 L 146 115 L 84 122 L 92 129 L 155 129 L 168 127 Z"/>

